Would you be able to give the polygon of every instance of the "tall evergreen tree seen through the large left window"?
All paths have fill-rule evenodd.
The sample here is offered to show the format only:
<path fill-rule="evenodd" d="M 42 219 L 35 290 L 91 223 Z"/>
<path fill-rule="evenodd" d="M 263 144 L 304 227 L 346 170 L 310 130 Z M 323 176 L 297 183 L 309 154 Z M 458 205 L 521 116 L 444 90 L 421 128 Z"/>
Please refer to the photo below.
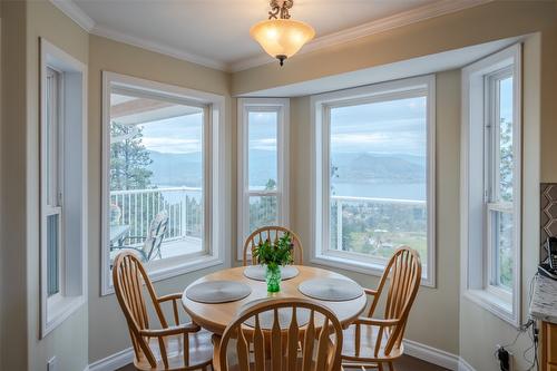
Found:
<path fill-rule="evenodd" d="M 110 189 L 146 189 L 150 185 L 153 163 L 143 144 L 141 128 L 111 123 Z"/>

